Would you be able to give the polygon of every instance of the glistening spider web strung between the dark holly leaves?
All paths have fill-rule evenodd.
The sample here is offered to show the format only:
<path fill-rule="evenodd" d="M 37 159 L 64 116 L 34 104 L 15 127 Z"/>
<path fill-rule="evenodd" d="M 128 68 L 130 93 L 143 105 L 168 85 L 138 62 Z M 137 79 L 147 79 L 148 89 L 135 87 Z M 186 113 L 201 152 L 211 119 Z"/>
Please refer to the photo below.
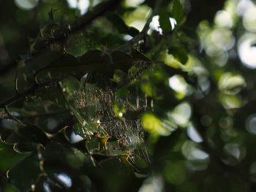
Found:
<path fill-rule="evenodd" d="M 118 141 L 119 149 L 136 153 L 149 163 L 145 133 L 140 123 L 140 114 L 148 110 L 148 98 L 139 88 L 140 77 L 149 64 L 148 61 L 134 62 L 121 88 L 109 86 L 106 80 L 105 86 L 86 82 L 80 88 L 69 91 L 70 107 L 74 107 L 83 118 L 78 134 L 89 139 L 96 134 L 108 136 L 110 141 Z M 120 90 L 124 93 L 119 93 Z M 110 143 L 106 145 L 108 150 L 116 149 Z"/>

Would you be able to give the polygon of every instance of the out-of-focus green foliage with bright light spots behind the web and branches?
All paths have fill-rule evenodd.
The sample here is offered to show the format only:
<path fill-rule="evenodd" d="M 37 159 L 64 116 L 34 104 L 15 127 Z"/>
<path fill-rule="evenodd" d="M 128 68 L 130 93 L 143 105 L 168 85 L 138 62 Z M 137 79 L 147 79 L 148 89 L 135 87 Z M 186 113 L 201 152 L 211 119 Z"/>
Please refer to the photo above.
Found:
<path fill-rule="evenodd" d="M 18 61 L 29 53 L 31 39 L 44 36 L 51 9 L 55 22 L 75 23 L 101 2 L 1 0 L 0 101 L 15 94 Z M 72 148 L 52 143 L 43 154 L 49 160 L 47 174 L 40 177 L 34 176 L 39 172 L 34 171 L 39 169 L 38 162 L 28 166 L 38 154 L 21 161 L 12 172 L 19 176 L 10 182 L 3 161 L 13 156 L 0 156 L 0 191 L 33 191 L 36 185 L 45 192 L 256 191 L 256 2 L 179 2 L 181 14 L 171 8 L 173 1 L 162 1 L 162 11 L 152 18 L 142 48 L 148 58 L 164 64 L 142 74 L 140 82 L 141 91 L 154 101 L 154 110 L 141 115 L 152 161 L 150 174 L 136 175 L 117 160 L 89 166 L 82 153 L 73 155 Z M 142 31 L 154 3 L 124 0 L 113 12 L 125 25 Z M 162 12 L 170 20 L 169 26 L 164 25 Z M 98 18 L 67 37 L 65 50 L 75 56 L 94 49 L 108 52 L 132 39 L 132 34 L 121 33 L 115 25 L 106 17 Z M 12 107 L 29 111 L 20 103 Z M 45 117 L 42 124 L 54 127 L 63 117 L 65 114 Z M 15 127 L 12 121 L 1 119 L 1 128 Z M 12 147 L 5 150 L 14 153 Z M 26 172 L 33 174 L 26 177 Z"/>

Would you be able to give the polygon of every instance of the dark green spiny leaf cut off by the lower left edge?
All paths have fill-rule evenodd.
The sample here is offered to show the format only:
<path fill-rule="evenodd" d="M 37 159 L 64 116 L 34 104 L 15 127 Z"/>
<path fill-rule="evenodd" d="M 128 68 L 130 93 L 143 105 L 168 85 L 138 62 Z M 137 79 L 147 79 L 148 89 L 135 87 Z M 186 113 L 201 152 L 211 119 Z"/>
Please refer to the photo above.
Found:
<path fill-rule="evenodd" d="M 13 150 L 13 145 L 6 144 L 0 140 L 0 172 L 4 173 L 11 169 L 15 164 L 18 164 L 28 154 L 17 153 Z"/>

